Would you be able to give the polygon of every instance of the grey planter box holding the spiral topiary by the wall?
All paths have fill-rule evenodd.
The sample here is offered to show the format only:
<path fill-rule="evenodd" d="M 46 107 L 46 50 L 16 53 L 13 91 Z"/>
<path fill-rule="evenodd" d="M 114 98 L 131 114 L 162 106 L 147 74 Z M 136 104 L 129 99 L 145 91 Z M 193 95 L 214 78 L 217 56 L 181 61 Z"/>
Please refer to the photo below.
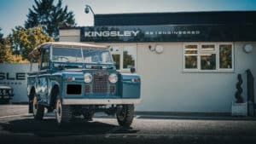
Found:
<path fill-rule="evenodd" d="M 231 114 L 232 116 L 247 116 L 247 102 L 232 102 Z"/>

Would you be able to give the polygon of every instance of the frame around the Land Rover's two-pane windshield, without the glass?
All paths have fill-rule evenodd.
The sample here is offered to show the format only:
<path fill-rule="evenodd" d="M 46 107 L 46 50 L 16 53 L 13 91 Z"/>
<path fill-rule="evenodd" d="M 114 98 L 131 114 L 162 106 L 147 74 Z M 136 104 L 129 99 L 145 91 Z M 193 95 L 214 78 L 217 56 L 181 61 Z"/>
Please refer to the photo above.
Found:
<path fill-rule="evenodd" d="M 60 61 L 60 60 L 53 60 L 53 49 L 80 49 L 81 51 L 81 58 L 82 60 L 79 60 L 79 61 Z M 92 49 L 92 50 L 102 50 L 102 51 L 106 51 L 108 52 L 108 55 L 109 55 L 109 59 L 112 61 L 112 62 L 85 62 L 84 60 L 84 49 Z M 63 46 L 54 46 L 54 45 L 51 45 L 50 46 L 50 56 L 49 56 L 49 59 L 50 61 L 52 62 L 58 62 L 58 63 L 84 63 L 84 64 L 101 64 L 101 65 L 114 65 L 114 61 L 113 61 L 113 56 L 110 52 L 109 49 L 94 49 L 94 48 L 84 48 L 84 47 L 70 47 L 70 46 L 66 46 L 66 45 L 63 45 Z"/>

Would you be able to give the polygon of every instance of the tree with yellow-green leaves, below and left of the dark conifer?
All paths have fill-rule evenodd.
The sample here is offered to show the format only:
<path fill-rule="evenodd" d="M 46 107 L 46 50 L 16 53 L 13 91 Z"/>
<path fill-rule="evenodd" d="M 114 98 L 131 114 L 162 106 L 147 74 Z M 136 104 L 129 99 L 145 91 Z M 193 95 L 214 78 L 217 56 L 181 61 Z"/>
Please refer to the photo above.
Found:
<path fill-rule="evenodd" d="M 32 49 L 45 42 L 53 42 L 53 37 L 44 33 L 41 25 L 33 28 L 24 28 L 17 26 L 9 36 L 12 49 L 15 49 L 15 55 L 22 55 L 23 60 L 28 60 Z"/>

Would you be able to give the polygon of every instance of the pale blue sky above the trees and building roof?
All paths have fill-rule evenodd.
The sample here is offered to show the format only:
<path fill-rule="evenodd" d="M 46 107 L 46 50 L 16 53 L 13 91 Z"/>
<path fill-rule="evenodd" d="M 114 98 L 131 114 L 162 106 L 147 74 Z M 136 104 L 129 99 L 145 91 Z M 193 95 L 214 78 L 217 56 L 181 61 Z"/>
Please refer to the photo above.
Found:
<path fill-rule="evenodd" d="M 62 0 L 75 14 L 78 26 L 92 26 L 93 14 L 160 13 L 180 11 L 256 10 L 256 0 Z M 15 26 L 24 26 L 34 0 L 0 0 L 0 27 L 6 37 Z"/>

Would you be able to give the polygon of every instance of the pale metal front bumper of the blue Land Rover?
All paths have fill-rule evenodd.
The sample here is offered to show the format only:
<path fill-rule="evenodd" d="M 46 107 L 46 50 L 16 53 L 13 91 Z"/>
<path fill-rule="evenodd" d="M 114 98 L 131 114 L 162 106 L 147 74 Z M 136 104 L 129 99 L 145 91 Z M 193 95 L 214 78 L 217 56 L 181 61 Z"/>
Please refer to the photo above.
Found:
<path fill-rule="evenodd" d="M 63 105 L 138 104 L 142 99 L 63 99 Z"/>

